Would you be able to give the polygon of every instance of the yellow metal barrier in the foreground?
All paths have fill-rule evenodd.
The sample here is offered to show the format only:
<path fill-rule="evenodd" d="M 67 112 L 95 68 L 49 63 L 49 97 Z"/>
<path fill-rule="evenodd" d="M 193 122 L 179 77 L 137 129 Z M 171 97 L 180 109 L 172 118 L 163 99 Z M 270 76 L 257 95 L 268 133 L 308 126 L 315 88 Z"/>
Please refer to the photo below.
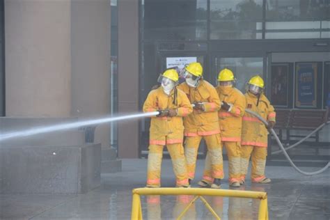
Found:
<path fill-rule="evenodd" d="M 238 197 L 238 198 L 256 198 L 260 199 L 258 219 L 268 220 L 268 205 L 267 205 L 267 193 L 264 191 L 242 191 L 242 190 L 230 190 L 230 189 L 201 189 L 201 188 L 137 188 L 133 189 L 133 201 L 132 201 L 132 219 L 142 219 L 141 199 L 140 195 L 194 195 L 196 196 L 191 201 L 188 207 L 196 201 L 197 198 L 201 198 L 205 206 L 215 214 L 212 207 L 205 201 L 203 196 L 226 196 L 226 197 Z M 186 207 L 182 215 L 187 212 Z M 217 215 L 217 214 L 216 214 Z M 217 217 L 219 218 L 219 217 Z"/>

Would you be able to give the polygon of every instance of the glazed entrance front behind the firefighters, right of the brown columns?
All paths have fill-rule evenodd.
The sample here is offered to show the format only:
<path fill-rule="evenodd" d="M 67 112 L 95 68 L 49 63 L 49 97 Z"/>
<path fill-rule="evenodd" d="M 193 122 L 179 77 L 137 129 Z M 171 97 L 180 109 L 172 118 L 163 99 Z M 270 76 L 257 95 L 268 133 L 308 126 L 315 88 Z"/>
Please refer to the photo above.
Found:
<path fill-rule="evenodd" d="M 329 1 L 144 0 L 139 9 L 140 107 L 159 73 L 189 61 L 201 62 L 214 85 L 230 68 L 242 92 L 259 74 L 276 108 L 329 105 Z M 140 125 L 141 155 L 149 122 Z"/>

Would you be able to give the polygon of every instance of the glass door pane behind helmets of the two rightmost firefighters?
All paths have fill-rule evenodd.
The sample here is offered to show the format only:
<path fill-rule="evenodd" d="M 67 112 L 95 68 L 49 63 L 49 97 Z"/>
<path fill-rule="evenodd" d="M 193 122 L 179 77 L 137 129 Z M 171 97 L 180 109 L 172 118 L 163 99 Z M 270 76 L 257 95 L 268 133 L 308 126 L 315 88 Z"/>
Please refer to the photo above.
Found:
<path fill-rule="evenodd" d="M 262 57 L 239 57 L 239 58 L 217 58 L 216 72 L 219 74 L 223 68 L 228 68 L 234 72 L 236 88 L 245 93 L 245 84 L 254 75 L 262 77 L 263 63 Z"/>

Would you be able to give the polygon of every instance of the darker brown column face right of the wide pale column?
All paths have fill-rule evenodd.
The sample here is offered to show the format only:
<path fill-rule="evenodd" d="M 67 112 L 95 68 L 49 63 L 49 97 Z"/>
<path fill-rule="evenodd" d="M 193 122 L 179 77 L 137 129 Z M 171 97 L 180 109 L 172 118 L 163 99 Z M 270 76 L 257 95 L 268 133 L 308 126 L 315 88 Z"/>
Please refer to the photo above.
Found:
<path fill-rule="evenodd" d="M 108 116 L 110 109 L 110 0 L 71 1 L 72 116 Z M 95 142 L 109 147 L 109 125 Z"/>

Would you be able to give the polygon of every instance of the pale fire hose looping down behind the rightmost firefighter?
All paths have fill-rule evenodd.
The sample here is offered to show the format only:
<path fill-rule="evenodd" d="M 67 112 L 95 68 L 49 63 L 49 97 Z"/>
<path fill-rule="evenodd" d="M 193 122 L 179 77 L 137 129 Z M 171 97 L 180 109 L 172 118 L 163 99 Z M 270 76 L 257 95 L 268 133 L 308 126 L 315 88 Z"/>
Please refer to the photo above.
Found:
<path fill-rule="evenodd" d="M 251 113 L 253 116 L 256 116 L 259 120 L 262 121 L 262 123 L 264 123 L 266 126 L 268 125 L 267 121 L 262 118 L 258 113 L 254 112 L 254 111 L 251 111 L 249 109 L 245 109 L 246 112 L 248 113 Z M 324 123 L 326 124 L 326 123 Z M 311 136 L 312 134 L 314 134 L 315 132 L 317 132 L 317 130 L 321 129 L 324 125 L 320 125 L 320 127 L 317 127 L 317 129 L 315 129 L 315 131 L 313 131 L 311 134 L 308 134 L 308 136 L 306 136 L 304 139 L 302 139 L 301 141 L 295 143 L 294 145 L 290 146 L 289 148 L 286 148 L 287 150 L 290 149 L 290 148 L 293 148 L 295 146 L 297 146 L 299 143 L 305 141 L 309 136 Z M 288 153 L 285 151 L 285 148 L 283 147 L 283 144 L 281 143 L 280 139 L 278 139 L 278 136 L 276 134 L 276 132 L 274 131 L 274 129 L 271 129 L 271 132 L 272 134 L 274 135 L 277 143 L 278 143 L 278 146 L 280 146 L 281 150 L 283 151 L 283 154 L 285 155 L 286 159 L 288 159 L 288 161 L 290 162 L 291 166 L 296 170 L 298 171 L 299 173 L 301 174 L 304 174 L 304 175 L 316 175 L 316 174 L 319 174 L 319 173 L 322 173 L 324 171 L 327 170 L 327 168 L 329 168 L 330 166 L 330 162 L 328 162 L 328 164 L 326 166 L 324 166 L 324 168 L 321 168 L 320 170 L 318 171 L 315 171 L 315 172 L 305 172 L 305 171 L 301 171 L 291 160 L 291 158 L 289 157 Z M 274 153 L 277 153 L 274 152 Z"/>

